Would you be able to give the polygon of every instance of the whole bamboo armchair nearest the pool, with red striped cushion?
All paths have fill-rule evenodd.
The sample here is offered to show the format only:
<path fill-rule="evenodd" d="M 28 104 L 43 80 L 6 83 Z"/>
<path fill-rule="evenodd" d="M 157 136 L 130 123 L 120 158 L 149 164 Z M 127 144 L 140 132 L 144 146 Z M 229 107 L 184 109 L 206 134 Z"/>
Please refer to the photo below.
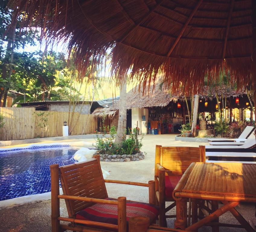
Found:
<path fill-rule="evenodd" d="M 104 180 L 99 156 L 95 157 L 62 167 L 58 164 L 50 166 L 52 232 L 65 230 L 126 232 L 128 220 L 134 216 L 148 216 L 150 223 L 155 222 L 158 217 L 158 206 L 155 205 L 155 181 L 146 184 Z M 59 195 L 59 177 L 63 195 Z M 149 187 L 149 204 L 126 201 L 125 197 L 108 198 L 105 182 Z M 69 218 L 60 217 L 59 199 L 65 199 Z M 60 221 L 71 224 L 60 224 Z"/>

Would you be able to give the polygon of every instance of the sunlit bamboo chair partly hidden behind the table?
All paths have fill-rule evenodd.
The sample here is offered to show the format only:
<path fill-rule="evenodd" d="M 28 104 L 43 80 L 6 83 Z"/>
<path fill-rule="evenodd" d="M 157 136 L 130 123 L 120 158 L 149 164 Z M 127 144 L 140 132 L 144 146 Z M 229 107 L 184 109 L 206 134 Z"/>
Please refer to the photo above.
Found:
<path fill-rule="evenodd" d="M 159 205 L 159 226 L 166 226 L 166 215 L 176 206 L 172 192 L 181 176 L 193 162 L 205 162 L 205 147 L 155 147 L 155 189 L 156 201 Z M 165 208 L 165 202 L 173 201 Z"/>

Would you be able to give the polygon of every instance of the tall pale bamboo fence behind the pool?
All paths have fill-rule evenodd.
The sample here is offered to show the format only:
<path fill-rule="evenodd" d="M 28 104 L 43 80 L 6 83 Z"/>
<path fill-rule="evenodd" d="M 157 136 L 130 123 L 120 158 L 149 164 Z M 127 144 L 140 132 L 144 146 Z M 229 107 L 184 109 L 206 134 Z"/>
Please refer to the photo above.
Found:
<path fill-rule="evenodd" d="M 1 107 L 0 113 L 5 118 L 4 127 L 0 128 L 2 141 L 62 136 L 63 122 L 69 118 L 69 112 L 36 111 L 35 108 Z M 91 134 L 97 129 L 97 119 L 91 114 L 74 112 L 69 131 L 71 129 L 70 135 Z"/>

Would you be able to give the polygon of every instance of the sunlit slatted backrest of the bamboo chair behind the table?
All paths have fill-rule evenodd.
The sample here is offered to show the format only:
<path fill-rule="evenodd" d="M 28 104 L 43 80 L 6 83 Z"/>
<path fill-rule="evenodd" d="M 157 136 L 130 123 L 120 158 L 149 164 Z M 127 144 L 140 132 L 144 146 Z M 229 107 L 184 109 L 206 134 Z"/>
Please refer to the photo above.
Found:
<path fill-rule="evenodd" d="M 167 175 L 182 175 L 193 162 L 204 162 L 205 154 L 199 147 L 162 147 L 156 150 L 156 162 L 165 168 Z M 204 157 L 203 157 L 204 156 Z"/>

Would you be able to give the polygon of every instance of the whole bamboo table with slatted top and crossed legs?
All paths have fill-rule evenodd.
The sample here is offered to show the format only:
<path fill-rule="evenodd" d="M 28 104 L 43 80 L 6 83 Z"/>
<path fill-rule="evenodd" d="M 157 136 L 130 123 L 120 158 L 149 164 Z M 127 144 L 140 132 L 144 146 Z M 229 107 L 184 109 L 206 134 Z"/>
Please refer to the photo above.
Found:
<path fill-rule="evenodd" d="M 212 226 L 213 231 L 219 231 L 219 226 L 230 226 L 255 232 L 235 206 L 239 202 L 256 203 L 256 164 L 192 163 L 174 189 L 173 198 L 176 200 L 175 229 L 197 231 L 207 225 Z M 192 200 L 192 225 L 187 227 L 188 198 Z M 212 201 L 212 209 L 209 209 L 209 216 L 198 221 L 197 204 L 200 200 Z M 218 201 L 224 204 L 221 208 L 218 208 Z M 219 216 L 227 211 L 241 225 L 219 223 Z"/>

